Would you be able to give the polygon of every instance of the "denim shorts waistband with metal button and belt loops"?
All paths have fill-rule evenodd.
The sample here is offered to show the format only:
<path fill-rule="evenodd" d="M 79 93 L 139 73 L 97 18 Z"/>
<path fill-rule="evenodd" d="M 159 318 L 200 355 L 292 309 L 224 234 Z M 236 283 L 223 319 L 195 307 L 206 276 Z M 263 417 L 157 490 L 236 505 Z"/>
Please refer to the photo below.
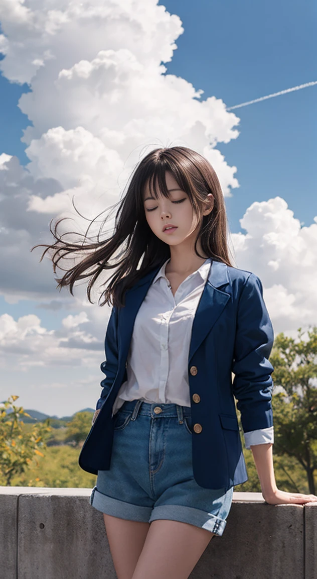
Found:
<path fill-rule="evenodd" d="M 161 412 L 158 411 L 158 408 L 161 408 Z M 144 400 L 126 400 L 119 411 L 132 412 L 131 420 L 136 420 L 137 415 L 140 414 L 151 418 L 177 417 L 178 420 L 182 421 L 184 416 L 191 416 L 192 413 L 190 406 L 166 402 L 164 404 L 162 402 L 144 402 Z"/>

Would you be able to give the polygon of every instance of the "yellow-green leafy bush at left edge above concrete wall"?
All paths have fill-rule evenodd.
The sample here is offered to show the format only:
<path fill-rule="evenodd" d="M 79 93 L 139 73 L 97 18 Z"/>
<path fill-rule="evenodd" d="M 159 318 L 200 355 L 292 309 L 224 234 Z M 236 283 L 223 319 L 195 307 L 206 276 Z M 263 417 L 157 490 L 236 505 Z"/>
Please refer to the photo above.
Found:
<path fill-rule="evenodd" d="M 14 406 L 18 396 L 10 396 L 0 404 L 0 484 L 9 486 L 12 477 L 22 474 L 35 460 L 36 455 L 44 456 L 46 449 L 45 439 L 50 433 L 49 419 L 44 423 L 33 424 L 29 431 L 25 431 L 20 416 L 29 416 L 23 406 Z M 8 409 L 12 412 L 7 413 Z"/>

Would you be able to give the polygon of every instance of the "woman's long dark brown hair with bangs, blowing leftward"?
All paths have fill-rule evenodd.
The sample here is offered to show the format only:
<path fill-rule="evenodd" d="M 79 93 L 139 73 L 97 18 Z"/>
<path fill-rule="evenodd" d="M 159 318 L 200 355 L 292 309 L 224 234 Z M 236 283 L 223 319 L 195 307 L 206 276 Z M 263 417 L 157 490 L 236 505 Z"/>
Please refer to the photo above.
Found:
<path fill-rule="evenodd" d="M 68 285 L 70 294 L 73 295 L 75 281 L 89 278 L 87 296 L 89 302 L 92 303 L 91 290 L 98 277 L 103 270 L 115 268 L 115 272 L 106 282 L 106 289 L 99 298 L 99 305 L 110 303 L 122 307 L 125 305 L 125 291 L 150 270 L 163 265 L 170 257 L 170 248 L 168 244 L 156 237 L 147 223 L 143 192 L 148 182 L 151 195 L 154 195 L 156 199 L 159 193 L 170 197 L 165 181 L 166 171 L 173 174 L 178 186 L 187 193 L 193 212 L 199 218 L 200 230 L 195 241 L 196 255 L 199 257 L 207 255 L 215 261 L 222 261 L 234 267 L 228 251 L 225 201 L 214 168 L 196 151 L 183 146 L 173 146 L 155 149 L 137 164 L 126 186 L 125 195 L 118 203 L 110 207 L 111 209 L 120 205 L 115 215 L 114 233 L 111 237 L 99 239 L 107 218 L 103 221 L 94 243 L 85 243 L 85 239 L 88 239 L 87 232 L 83 243 L 69 243 L 57 233 L 58 224 L 65 218 L 58 219 L 54 231 L 51 229 L 50 222 L 50 231 L 56 239 L 55 243 L 35 245 L 31 251 L 35 247 L 46 247 L 40 259 L 42 261 L 46 252 L 53 250 L 51 260 L 54 273 L 56 273 L 57 266 L 62 269 L 58 263 L 65 256 L 80 255 L 82 252 L 87 254 L 88 251 L 88 255 L 66 270 L 63 277 L 55 278 L 58 281 L 57 288 L 61 290 L 62 287 Z M 202 215 L 203 201 L 208 193 L 214 196 L 214 207 L 208 215 Z M 198 239 L 204 252 L 203 256 L 197 251 Z M 111 257 L 115 258 L 115 263 L 110 263 Z M 62 270 L 65 271 L 65 269 Z M 102 302 L 101 298 L 103 298 Z"/>

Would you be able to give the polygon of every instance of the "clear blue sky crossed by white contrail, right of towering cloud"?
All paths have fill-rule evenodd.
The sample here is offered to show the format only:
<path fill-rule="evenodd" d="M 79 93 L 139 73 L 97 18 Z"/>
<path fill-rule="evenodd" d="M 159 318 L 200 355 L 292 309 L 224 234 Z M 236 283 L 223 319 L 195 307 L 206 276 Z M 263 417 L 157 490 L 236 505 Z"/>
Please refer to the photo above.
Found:
<path fill-rule="evenodd" d="M 163 3 L 163 2 L 162 2 Z M 167 71 L 227 107 L 317 80 L 315 2 L 165 2 L 185 28 Z M 317 214 L 317 85 L 236 109 L 240 135 L 218 144 L 237 167 L 226 198 L 233 232 L 253 201 L 281 195 L 305 225 Z"/>

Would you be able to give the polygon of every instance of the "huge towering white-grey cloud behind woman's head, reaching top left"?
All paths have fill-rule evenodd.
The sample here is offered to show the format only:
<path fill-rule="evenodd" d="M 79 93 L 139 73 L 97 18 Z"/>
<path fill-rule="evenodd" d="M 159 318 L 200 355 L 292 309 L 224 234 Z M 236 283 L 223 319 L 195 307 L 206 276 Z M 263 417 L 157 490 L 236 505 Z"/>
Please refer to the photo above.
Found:
<path fill-rule="evenodd" d="M 192 146 L 214 164 L 225 195 L 238 186 L 236 167 L 215 146 L 238 136 L 239 119 L 165 74 L 183 29 L 156 0 L 0 0 L 0 20 L 2 72 L 32 89 L 19 101 L 32 122 L 24 135 L 29 163 L 4 154 L 0 164 L 6 299 L 54 299 L 48 261 L 38 264 L 40 250 L 29 249 L 51 239 L 52 217 L 72 215 L 60 232 L 83 233 L 87 222 L 72 198 L 86 217 L 100 214 L 155 146 Z"/>

